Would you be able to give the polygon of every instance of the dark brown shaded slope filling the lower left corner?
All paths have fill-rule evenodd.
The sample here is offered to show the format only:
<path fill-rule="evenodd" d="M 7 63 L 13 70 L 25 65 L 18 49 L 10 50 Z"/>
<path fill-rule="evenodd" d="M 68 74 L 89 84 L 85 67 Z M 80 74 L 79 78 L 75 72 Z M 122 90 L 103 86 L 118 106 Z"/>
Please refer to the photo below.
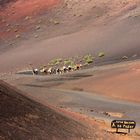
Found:
<path fill-rule="evenodd" d="M 81 140 L 91 132 L 0 81 L 0 140 Z"/>

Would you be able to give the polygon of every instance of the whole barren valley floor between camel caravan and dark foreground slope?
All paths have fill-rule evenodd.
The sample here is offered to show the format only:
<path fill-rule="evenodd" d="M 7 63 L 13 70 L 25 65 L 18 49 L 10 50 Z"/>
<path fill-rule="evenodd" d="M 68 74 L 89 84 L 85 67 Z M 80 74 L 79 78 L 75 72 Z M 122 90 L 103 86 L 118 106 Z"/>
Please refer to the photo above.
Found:
<path fill-rule="evenodd" d="M 139 78 L 129 77 L 130 80 L 127 81 L 128 83 L 123 81 L 123 76 L 127 74 L 126 72 L 128 70 L 132 70 L 131 68 L 134 68 L 134 66 L 137 69 L 133 69 L 132 72 L 138 72 L 138 64 L 139 61 L 134 61 L 100 67 L 97 66 L 92 69 L 85 69 L 60 76 L 32 76 L 17 74 L 11 75 L 10 77 L 4 76 L 3 79 L 24 91 L 24 95 L 27 97 L 44 105 L 48 105 L 49 103 L 60 110 L 65 110 L 66 112 L 83 114 L 84 116 L 87 116 L 85 121 L 88 121 L 88 117 L 92 118 L 90 123 L 93 124 L 95 121 L 101 122 L 98 125 L 104 131 L 108 131 L 109 133 L 115 131 L 110 129 L 111 120 L 133 119 L 137 122 L 137 127 L 131 132 L 129 138 L 139 139 L 139 95 L 137 95 L 137 92 L 131 93 L 132 88 L 134 88 L 132 91 L 135 91 L 139 86 L 135 84 L 135 86 L 130 86 L 131 82 L 136 83 L 139 81 Z M 102 79 L 106 78 L 107 80 L 115 74 L 121 74 L 120 78 L 122 77 L 123 84 L 126 84 L 125 92 L 121 92 L 123 86 L 121 87 L 119 81 L 116 81 L 116 79 L 114 79 L 113 83 L 116 82 L 116 84 L 120 86 L 120 88 L 117 89 L 118 94 L 113 94 L 113 91 L 106 92 L 105 89 L 103 90 L 104 92 L 96 90 L 99 85 L 103 86 L 102 82 L 104 80 Z M 96 85 L 97 80 L 100 83 Z M 110 83 L 107 87 L 109 86 L 112 87 L 114 85 Z M 129 92 L 127 92 L 127 90 Z M 71 114 L 69 115 L 71 116 Z M 75 117 L 76 116 L 74 116 L 74 118 Z M 119 139 L 119 136 L 117 138 Z"/>

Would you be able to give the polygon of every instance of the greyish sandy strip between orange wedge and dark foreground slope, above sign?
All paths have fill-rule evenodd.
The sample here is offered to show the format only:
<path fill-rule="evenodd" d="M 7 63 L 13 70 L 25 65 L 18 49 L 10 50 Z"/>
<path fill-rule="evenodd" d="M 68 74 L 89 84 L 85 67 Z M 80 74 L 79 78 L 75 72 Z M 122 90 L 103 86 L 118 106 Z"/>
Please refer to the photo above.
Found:
<path fill-rule="evenodd" d="M 140 104 L 117 101 L 104 96 L 97 95 L 98 93 L 88 93 L 72 90 L 61 89 L 47 89 L 43 87 L 43 90 L 39 92 L 36 87 L 22 88 L 24 91 L 28 91 L 27 96 L 32 96 L 39 99 L 40 102 L 49 102 L 59 108 L 70 109 L 74 112 L 79 112 L 87 116 L 104 120 L 105 122 L 111 122 L 113 119 L 130 119 L 137 122 L 137 128 L 140 128 Z M 36 89 L 36 92 L 32 92 Z M 109 112 L 120 113 L 121 117 L 110 116 Z"/>

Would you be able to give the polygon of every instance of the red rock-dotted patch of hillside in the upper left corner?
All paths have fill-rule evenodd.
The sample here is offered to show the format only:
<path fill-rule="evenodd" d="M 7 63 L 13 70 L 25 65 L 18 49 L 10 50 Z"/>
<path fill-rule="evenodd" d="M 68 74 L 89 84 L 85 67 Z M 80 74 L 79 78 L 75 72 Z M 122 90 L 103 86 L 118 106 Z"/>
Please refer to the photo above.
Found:
<path fill-rule="evenodd" d="M 46 12 L 60 0 L 16 0 L 0 7 L 0 43 L 17 34 L 28 33 L 36 17 Z M 26 25 L 25 25 L 26 24 Z M 29 26 L 29 27 L 28 27 Z M 13 38 L 14 36 L 14 38 Z"/>

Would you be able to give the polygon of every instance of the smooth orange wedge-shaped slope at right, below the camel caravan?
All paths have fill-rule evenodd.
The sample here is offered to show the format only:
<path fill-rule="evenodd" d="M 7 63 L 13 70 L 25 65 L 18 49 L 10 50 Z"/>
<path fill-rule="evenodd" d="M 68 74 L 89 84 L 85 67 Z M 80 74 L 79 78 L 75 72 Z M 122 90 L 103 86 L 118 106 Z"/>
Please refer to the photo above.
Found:
<path fill-rule="evenodd" d="M 61 89 L 82 89 L 93 92 L 93 94 L 140 103 L 140 61 L 124 66 L 116 65 L 115 68 L 106 66 L 106 68 L 108 70 L 93 72 L 91 77 L 67 82 L 58 87 Z"/>

